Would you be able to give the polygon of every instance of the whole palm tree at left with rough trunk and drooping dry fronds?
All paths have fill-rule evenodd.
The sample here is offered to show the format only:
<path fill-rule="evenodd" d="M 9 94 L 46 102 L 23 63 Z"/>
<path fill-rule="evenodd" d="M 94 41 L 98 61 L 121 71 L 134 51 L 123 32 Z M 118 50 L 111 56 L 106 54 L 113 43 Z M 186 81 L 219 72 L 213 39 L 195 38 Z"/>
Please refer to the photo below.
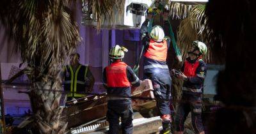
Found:
<path fill-rule="evenodd" d="M 33 133 L 63 133 L 67 123 L 60 121 L 61 79 L 58 77 L 65 59 L 81 40 L 72 18 L 70 1 L 13 1 L 0 3 L 0 21 L 15 40 L 24 73 L 31 80 L 27 92 L 33 115 L 20 127 L 33 128 Z"/>

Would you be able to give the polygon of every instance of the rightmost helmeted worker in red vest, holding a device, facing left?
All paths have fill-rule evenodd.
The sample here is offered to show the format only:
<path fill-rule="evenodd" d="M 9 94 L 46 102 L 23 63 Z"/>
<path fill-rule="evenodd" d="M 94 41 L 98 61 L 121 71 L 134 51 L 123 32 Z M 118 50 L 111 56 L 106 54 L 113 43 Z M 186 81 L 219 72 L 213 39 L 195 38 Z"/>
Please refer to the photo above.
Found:
<path fill-rule="evenodd" d="M 207 53 L 207 47 L 201 41 L 193 41 L 193 47 L 188 52 L 188 58 L 184 61 L 182 72 L 177 74 L 178 78 L 184 80 L 182 86 L 182 98 L 177 105 L 175 113 L 175 133 L 182 134 L 184 121 L 191 112 L 191 120 L 196 133 L 204 134 L 202 124 L 202 91 L 207 66 L 202 57 Z M 175 71 L 175 70 L 172 70 Z"/>

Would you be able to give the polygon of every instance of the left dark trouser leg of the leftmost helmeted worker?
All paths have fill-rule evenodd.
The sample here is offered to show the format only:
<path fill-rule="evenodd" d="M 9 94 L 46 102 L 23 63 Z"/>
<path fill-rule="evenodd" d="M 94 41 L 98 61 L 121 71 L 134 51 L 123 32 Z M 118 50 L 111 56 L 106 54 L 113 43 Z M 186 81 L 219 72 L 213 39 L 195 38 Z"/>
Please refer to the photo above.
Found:
<path fill-rule="evenodd" d="M 118 134 L 120 130 L 119 114 L 113 109 L 113 106 L 108 104 L 107 119 L 109 123 L 109 131 L 111 134 Z"/>

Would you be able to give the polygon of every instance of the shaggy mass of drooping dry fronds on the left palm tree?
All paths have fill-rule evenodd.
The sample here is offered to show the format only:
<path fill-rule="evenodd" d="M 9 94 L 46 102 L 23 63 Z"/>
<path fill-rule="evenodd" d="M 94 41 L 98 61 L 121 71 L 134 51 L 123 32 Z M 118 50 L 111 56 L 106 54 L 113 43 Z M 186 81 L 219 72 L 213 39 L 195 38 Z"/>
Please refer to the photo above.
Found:
<path fill-rule="evenodd" d="M 53 63 L 60 67 L 81 40 L 76 22 L 64 8 L 67 1 L 11 1 L 10 4 L 15 10 L 6 12 L 1 22 L 9 22 L 4 26 L 12 31 L 22 61 L 37 66 L 41 73 L 49 71 Z"/>

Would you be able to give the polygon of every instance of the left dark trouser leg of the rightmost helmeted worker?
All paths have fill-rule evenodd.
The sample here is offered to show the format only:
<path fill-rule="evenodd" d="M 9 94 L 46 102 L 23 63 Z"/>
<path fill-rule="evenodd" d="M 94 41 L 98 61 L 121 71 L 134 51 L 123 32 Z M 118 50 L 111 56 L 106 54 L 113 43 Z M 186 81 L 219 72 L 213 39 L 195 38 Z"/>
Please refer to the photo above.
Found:
<path fill-rule="evenodd" d="M 190 112 L 190 107 L 188 103 L 188 98 L 186 95 L 182 94 L 182 98 L 177 105 L 177 110 L 175 112 L 175 133 L 182 134 L 184 131 L 184 122 L 186 117 Z"/>

